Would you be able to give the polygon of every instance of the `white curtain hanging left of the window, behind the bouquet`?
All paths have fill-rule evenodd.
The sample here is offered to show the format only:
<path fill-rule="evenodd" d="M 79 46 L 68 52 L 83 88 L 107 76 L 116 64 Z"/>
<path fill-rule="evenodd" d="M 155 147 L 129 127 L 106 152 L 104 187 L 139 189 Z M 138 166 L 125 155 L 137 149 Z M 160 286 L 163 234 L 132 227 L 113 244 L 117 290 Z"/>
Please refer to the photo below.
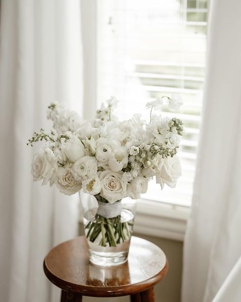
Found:
<path fill-rule="evenodd" d="M 55 244 L 77 235 L 78 202 L 33 183 L 39 146 L 26 142 L 34 130 L 49 130 L 51 102 L 81 111 L 79 1 L 2 0 L 0 30 L 1 301 L 57 301 L 43 260 Z"/>

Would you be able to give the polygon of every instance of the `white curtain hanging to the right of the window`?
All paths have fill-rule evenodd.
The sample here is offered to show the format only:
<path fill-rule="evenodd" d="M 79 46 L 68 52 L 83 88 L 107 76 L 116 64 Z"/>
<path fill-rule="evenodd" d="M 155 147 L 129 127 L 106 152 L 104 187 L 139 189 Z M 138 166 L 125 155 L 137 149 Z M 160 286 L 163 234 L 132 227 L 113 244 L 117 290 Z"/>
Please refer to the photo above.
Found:
<path fill-rule="evenodd" d="M 210 6 L 183 302 L 212 301 L 241 255 L 241 2 L 212 0 Z M 234 294 L 229 301 L 240 300 Z"/>

